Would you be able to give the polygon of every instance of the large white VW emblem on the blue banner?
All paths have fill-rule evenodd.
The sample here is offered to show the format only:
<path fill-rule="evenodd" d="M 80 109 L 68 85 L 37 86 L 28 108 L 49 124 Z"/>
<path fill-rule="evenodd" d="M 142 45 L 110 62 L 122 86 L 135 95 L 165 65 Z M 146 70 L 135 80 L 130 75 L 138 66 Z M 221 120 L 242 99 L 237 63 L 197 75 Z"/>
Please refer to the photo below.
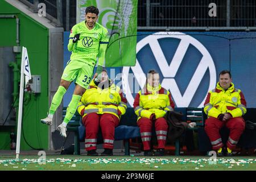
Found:
<path fill-rule="evenodd" d="M 174 54 L 174 57 L 172 58 L 170 65 L 168 65 L 166 57 L 164 56 L 163 51 L 158 42 L 158 39 L 163 39 L 163 38 L 180 39 L 179 46 L 176 49 L 176 52 Z M 157 32 L 153 35 L 146 36 L 146 38 L 142 39 L 137 43 L 137 53 L 147 44 L 149 44 L 151 51 L 154 54 L 155 59 L 159 65 L 159 68 L 163 74 L 164 78 L 161 85 L 163 86 L 163 88 L 170 90 L 177 107 L 189 106 L 208 68 L 210 73 L 210 82 L 209 82 L 208 90 L 213 89 L 216 86 L 216 69 L 215 69 L 212 57 L 210 56 L 210 53 L 207 51 L 207 49 L 203 46 L 203 44 L 201 44 L 198 40 L 196 40 L 192 36 L 186 35 L 182 32 Z M 182 63 L 183 57 L 187 52 L 188 46 L 190 44 L 192 44 L 195 48 L 197 48 L 203 56 L 200 60 L 199 65 L 196 68 L 195 73 L 193 73 L 192 78 L 190 77 L 188 78 L 191 80 L 182 96 L 182 94 L 180 93 L 179 87 L 177 86 L 177 83 L 175 81 L 175 75 Z M 126 98 L 131 106 L 133 106 L 134 98 L 133 98 L 133 95 L 131 94 L 133 90 L 130 90 L 130 86 L 128 82 L 128 75 L 129 75 L 130 68 L 133 71 L 134 76 L 141 88 L 144 86 L 146 82 L 146 75 L 142 74 L 143 71 L 142 71 L 141 65 L 139 64 L 138 60 L 136 61 L 137 63 L 135 67 L 123 67 L 123 76 L 124 76 L 123 88 L 129 89 L 129 90 L 125 90 L 125 92 L 126 92 Z M 205 94 L 204 98 L 202 98 L 202 102 L 198 107 L 203 107 L 206 97 L 207 97 L 207 93 Z"/>

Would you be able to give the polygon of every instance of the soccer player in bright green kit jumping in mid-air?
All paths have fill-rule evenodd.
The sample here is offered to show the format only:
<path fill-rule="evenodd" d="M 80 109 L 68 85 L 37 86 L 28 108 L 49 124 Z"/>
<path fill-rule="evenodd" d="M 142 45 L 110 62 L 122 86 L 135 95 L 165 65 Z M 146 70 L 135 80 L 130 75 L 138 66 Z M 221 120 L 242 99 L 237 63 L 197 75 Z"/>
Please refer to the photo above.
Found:
<path fill-rule="evenodd" d="M 42 123 L 52 125 L 53 114 L 59 107 L 71 82 L 76 81 L 75 91 L 71 102 L 69 102 L 67 114 L 64 121 L 57 127 L 62 137 L 67 137 L 66 126 L 75 114 L 80 98 L 92 80 L 93 69 L 97 63 L 97 55 L 97 73 L 101 73 L 102 67 L 105 66 L 105 51 L 109 42 L 109 34 L 105 27 L 96 22 L 98 13 L 97 7 L 87 7 L 85 21 L 72 27 L 68 43 L 68 51 L 72 51 L 70 60 L 61 76 L 60 86 L 52 98 L 48 116 L 41 119 Z"/>

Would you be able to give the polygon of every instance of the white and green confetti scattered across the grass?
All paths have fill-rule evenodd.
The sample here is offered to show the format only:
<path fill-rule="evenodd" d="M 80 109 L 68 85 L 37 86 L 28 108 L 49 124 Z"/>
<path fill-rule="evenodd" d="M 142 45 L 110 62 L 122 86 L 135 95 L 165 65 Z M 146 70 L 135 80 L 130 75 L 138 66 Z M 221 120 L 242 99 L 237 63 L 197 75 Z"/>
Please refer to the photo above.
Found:
<path fill-rule="evenodd" d="M 207 167 L 209 165 L 209 159 L 182 159 L 182 158 L 89 158 L 89 159 L 65 159 L 65 158 L 57 158 L 57 159 L 48 159 L 45 160 L 46 164 L 51 164 L 54 166 L 55 164 L 60 164 L 61 167 L 64 164 L 69 164 L 69 167 L 76 168 L 77 164 L 89 164 L 90 166 L 94 166 L 94 164 L 106 165 L 106 164 L 142 164 L 149 165 L 150 168 L 158 168 L 160 169 L 164 164 L 195 164 L 195 169 L 199 169 L 199 167 Z M 11 160 L 0 160 L 0 165 L 2 164 L 5 167 L 9 165 L 15 165 L 13 168 L 18 168 L 18 164 L 23 164 L 23 170 L 26 170 L 27 164 L 36 164 L 35 167 L 42 167 L 39 165 L 39 162 L 42 160 L 39 159 L 11 159 Z M 249 164 L 256 163 L 256 159 L 224 159 L 219 158 L 216 159 L 217 164 L 222 164 L 224 167 L 232 168 L 235 166 L 248 166 Z M 185 167 L 185 166 L 184 166 Z"/>

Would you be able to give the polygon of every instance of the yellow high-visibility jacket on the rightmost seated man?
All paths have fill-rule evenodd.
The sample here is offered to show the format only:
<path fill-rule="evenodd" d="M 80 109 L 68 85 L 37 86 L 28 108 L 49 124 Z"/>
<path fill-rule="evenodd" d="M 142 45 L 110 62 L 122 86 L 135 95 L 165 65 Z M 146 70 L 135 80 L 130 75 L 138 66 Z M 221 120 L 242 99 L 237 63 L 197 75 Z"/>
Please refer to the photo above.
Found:
<path fill-rule="evenodd" d="M 241 117 L 246 113 L 246 101 L 240 89 L 231 83 L 227 90 L 217 83 L 215 89 L 210 90 L 204 103 L 204 112 L 208 117 L 218 118 L 220 114 L 230 113 L 232 117 Z"/>

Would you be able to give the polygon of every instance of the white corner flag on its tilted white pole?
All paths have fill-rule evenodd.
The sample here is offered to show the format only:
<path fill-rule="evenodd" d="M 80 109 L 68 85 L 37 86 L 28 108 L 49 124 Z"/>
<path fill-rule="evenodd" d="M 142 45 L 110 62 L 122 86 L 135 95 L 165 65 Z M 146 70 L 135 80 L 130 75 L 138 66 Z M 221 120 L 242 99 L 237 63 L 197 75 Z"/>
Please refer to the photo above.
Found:
<path fill-rule="evenodd" d="M 17 127 L 17 140 L 16 140 L 16 159 L 19 159 L 19 149 L 20 149 L 20 131 L 22 124 L 22 106 L 23 106 L 23 92 L 24 92 L 24 75 L 25 84 L 31 80 L 30 73 L 30 63 L 28 61 L 27 49 L 22 47 L 22 61 L 20 67 L 20 86 L 19 86 L 19 114 L 18 114 L 18 127 Z"/>

